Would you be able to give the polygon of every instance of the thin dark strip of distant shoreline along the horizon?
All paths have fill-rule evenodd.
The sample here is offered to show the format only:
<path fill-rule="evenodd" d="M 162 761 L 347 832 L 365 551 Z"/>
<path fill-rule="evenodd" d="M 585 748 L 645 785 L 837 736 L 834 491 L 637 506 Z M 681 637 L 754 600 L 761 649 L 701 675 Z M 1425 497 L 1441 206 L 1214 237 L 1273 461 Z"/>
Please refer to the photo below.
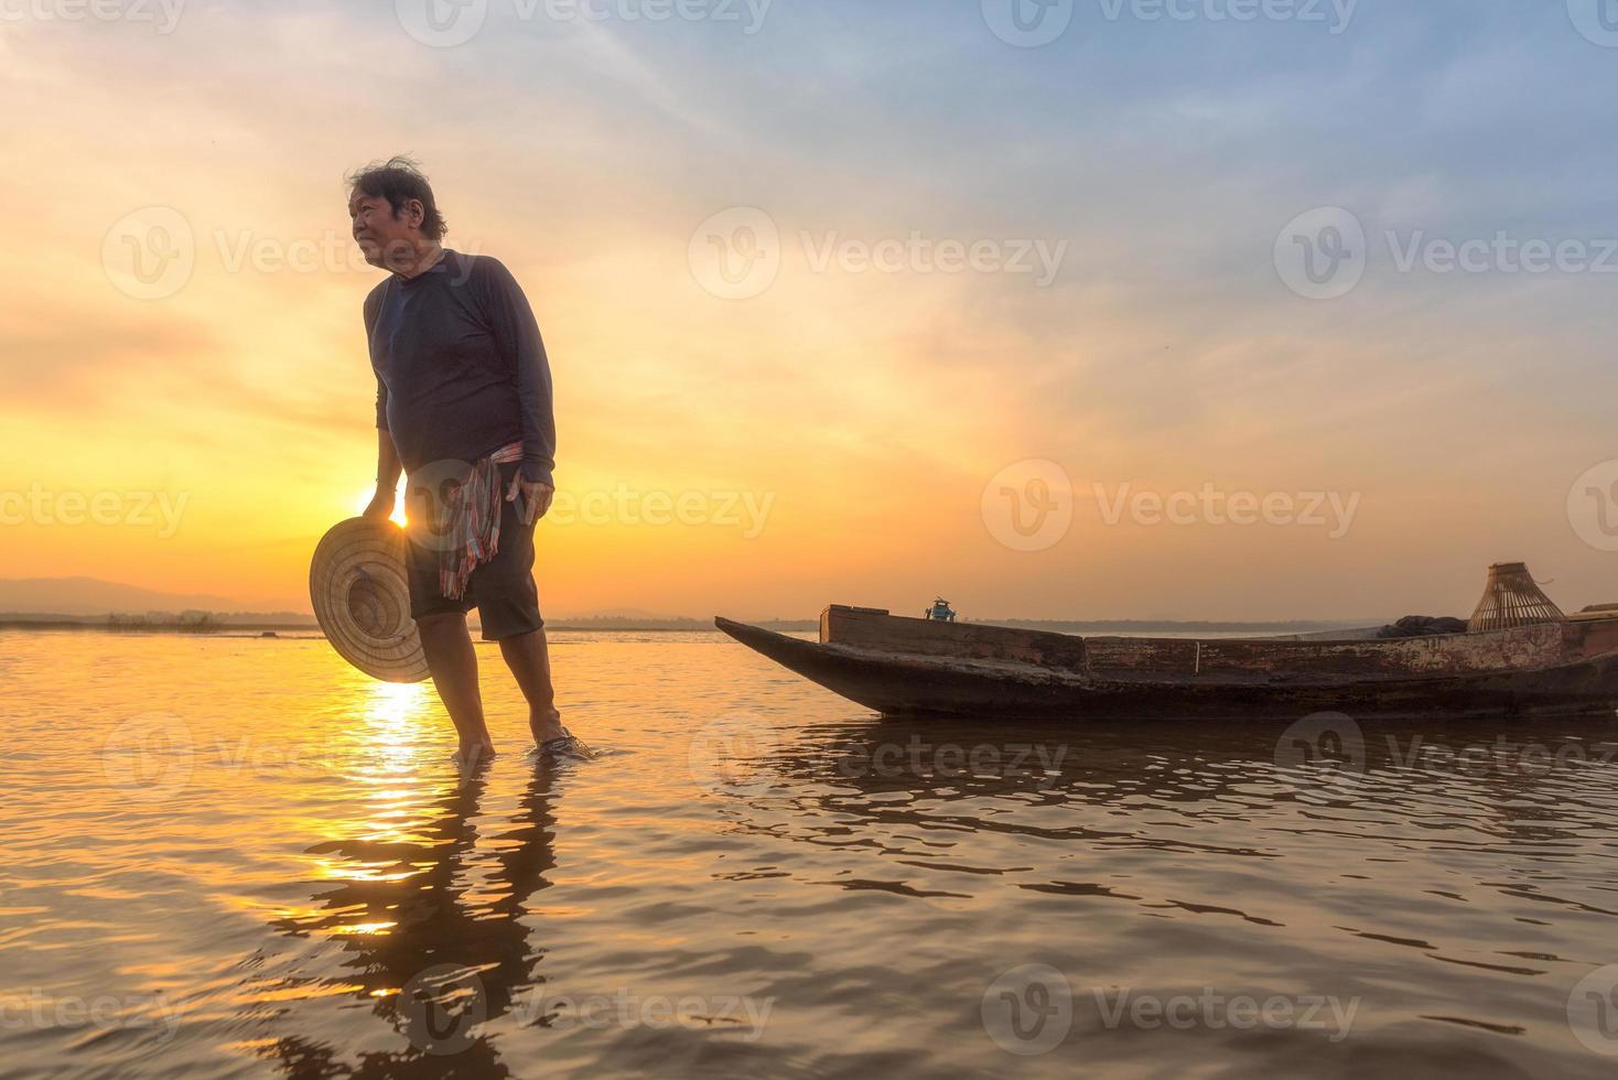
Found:
<path fill-rule="evenodd" d="M 1380 626 L 1383 619 L 1290 619 L 1270 622 L 1215 622 L 1175 619 L 961 619 L 1013 626 L 1052 634 L 1315 634 L 1322 631 Z M 756 626 L 770 631 L 817 631 L 819 619 L 760 619 Z M 13 631 L 110 631 L 116 634 L 222 634 L 239 631 L 319 631 L 312 616 L 296 613 L 217 613 L 217 611 L 147 611 L 108 614 L 36 614 L 0 613 L 0 629 Z M 633 631 L 633 632 L 717 632 L 707 619 L 637 619 L 631 616 L 597 616 L 584 619 L 550 619 L 547 631 Z"/>

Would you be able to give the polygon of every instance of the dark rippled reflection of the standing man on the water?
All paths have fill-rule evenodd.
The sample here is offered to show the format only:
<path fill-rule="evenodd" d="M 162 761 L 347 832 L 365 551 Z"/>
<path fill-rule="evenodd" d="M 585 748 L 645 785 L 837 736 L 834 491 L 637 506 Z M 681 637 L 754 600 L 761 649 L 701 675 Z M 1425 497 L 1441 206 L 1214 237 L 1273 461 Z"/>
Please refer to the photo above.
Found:
<path fill-rule="evenodd" d="M 354 1065 L 312 1033 L 278 1038 L 265 1054 L 298 1077 L 511 1075 L 477 1025 L 521 1009 L 527 999 L 523 991 L 544 981 L 536 968 L 545 949 L 529 941 L 523 915 L 529 899 L 550 886 L 545 875 L 557 865 L 557 773 L 545 761 L 531 768 L 515 828 L 484 837 L 481 857 L 474 855 L 474 820 L 487 766 L 429 804 L 438 813 L 413 829 L 419 841 L 343 839 L 309 849 L 338 865 L 364 867 L 366 876 L 317 892 L 319 917 L 272 925 L 296 938 L 341 941 L 348 954 L 343 978 L 358 986 L 353 996 L 401 1031 L 404 1038 L 395 1046 L 403 1049 L 361 1051 Z M 498 846 L 495 855 L 489 854 L 490 841 Z M 385 933 L 353 933 L 366 923 L 395 925 Z M 330 980 L 307 980 L 320 981 Z M 337 1015 L 337 1001 L 324 999 L 328 1017 Z"/>

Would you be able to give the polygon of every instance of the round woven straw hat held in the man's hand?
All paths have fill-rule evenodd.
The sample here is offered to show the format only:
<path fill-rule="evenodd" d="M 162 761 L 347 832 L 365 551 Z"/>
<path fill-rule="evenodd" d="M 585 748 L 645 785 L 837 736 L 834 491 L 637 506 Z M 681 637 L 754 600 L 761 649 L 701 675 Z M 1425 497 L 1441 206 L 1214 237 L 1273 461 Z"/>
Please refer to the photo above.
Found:
<path fill-rule="evenodd" d="M 309 600 L 332 648 L 367 676 L 421 682 L 427 658 L 409 618 L 404 530 L 349 517 L 332 525 L 309 564 Z"/>

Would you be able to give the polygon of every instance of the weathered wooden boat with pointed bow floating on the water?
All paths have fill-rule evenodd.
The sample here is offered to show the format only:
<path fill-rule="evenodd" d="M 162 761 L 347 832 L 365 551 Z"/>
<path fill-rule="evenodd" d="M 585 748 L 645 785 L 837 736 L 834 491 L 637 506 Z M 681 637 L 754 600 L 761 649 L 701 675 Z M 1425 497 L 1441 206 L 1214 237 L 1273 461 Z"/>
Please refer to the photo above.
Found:
<path fill-rule="evenodd" d="M 1084 639 L 840 605 L 819 642 L 715 626 L 887 716 L 1246 719 L 1612 711 L 1613 616 L 1395 640 Z"/>

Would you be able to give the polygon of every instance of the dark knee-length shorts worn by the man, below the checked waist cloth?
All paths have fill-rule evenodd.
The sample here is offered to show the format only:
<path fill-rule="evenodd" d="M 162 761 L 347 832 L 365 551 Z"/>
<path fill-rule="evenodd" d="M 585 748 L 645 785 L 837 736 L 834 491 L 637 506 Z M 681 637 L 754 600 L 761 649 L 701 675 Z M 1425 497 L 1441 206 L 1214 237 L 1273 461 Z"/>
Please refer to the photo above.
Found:
<path fill-rule="evenodd" d="M 518 517 L 518 501 L 505 501 L 519 467 L 516 461 L 500 466 L 500 548 L 492 559 L 472 569 L 460 600 L 450 600 L 438 589 L 438 553 L 416 542 L 404 545 L 413 619 L 466 614 L 477 608 L 485 642 L 531 634 L 545 626 L 539 618 L 539 590 L 534 589 L 534 529 L 539 521 L 524 525 Z"/>

